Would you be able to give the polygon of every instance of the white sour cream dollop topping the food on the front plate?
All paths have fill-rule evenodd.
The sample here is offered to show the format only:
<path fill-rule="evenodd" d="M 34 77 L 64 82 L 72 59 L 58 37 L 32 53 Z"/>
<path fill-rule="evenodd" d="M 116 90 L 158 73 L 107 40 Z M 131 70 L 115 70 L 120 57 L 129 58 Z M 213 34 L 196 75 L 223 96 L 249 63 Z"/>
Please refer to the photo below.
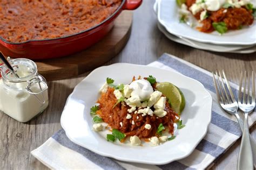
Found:
<path fill-rule="evenodd" d="M 140 101 L 149 99 L 150 95 L 153 93 L 150 82 L 144 79 L 135 80 L 129 86 L 132 89 L 131 96 L 139 96 Z"/>

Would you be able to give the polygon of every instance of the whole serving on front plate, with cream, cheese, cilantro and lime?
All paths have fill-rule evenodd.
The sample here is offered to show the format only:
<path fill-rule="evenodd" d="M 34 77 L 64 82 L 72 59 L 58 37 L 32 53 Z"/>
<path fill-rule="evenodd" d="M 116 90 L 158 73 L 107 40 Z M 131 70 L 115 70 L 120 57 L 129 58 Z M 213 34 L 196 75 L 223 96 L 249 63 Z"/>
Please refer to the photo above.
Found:
<path fill-rule="evenodd" d="M 95 123 L 92 129 L 112 130 L 107 141 L 124 142 L 130 137 L 131 145 L 139 146 L 145 140 L 157 146 L 174 139 L 174 131 L 185 126 L 179 116 L 185 107 L 183 93 L 172 83 L 157 82 L 151 75 L 118 85 L 107 78 L 97 103 L 90 112 Z"/>

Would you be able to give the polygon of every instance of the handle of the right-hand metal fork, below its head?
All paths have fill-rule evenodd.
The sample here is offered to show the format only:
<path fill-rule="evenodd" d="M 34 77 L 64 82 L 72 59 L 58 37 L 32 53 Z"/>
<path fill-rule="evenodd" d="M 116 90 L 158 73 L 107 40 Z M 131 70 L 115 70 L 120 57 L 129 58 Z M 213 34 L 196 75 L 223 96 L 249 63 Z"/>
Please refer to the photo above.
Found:
<path fill-rule="evenodd" d="M 245 112 L 244 130 L 238 156 L 238 170 L 253 169 L 252 147 L 248 128 L 248 112 Z"/>

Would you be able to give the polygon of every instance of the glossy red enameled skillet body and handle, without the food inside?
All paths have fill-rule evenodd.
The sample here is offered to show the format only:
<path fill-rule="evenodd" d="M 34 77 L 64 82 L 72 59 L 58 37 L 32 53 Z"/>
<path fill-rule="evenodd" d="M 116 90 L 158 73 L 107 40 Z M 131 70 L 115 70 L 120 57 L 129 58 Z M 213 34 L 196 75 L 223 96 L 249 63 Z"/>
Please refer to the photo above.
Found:
<path fill-rule="evenodd" d="M 113 27 L 114 19 L 123 10 L 137 9 L 142 0 L 123 0 L 119 8 L 102 23 L 70 36 L 29 40 L 21 43 L 8 42 L 0 37 L 0 51 L 12 58 L 50 59 L 82 51 L 102 39 Z"/>

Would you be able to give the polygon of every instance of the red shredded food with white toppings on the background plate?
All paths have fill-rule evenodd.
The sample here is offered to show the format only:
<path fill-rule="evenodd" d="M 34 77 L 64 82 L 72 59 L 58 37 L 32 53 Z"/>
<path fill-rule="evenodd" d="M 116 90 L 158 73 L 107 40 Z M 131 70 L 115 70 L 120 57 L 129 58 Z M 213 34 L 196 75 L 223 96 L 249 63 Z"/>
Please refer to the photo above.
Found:
<path fill-rule="evenodd" d="M 256 17 L 255 6 L 251 0 L 176 0 L 179 6 L 181 23 L 205 33 L 240 30 L 250 26 Z M 191 17 L 192 16 L 192 17 Z M 194 24 L 196 18 L 199 25 Z"/>

